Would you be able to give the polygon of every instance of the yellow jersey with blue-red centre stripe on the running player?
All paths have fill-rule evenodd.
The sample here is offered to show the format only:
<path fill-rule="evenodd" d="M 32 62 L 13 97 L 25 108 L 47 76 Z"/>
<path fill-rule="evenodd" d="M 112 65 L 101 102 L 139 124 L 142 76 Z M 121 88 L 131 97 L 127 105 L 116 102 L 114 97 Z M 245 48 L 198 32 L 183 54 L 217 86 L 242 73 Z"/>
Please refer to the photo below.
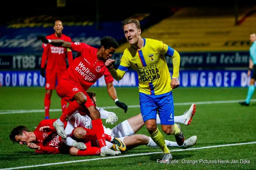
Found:
<path fill-rule="evenodd" d="M 170 72 L 165 55 L 178 60 L 173 69 L 173 78 L 179 77 L 180 56 L 177 51 L 155 39 L 144 39 L 143 48 L 137 50 L 132 46 L 124 51 L 118 71 L 124 74 L 129 67 L 138 72 L 139 91 L 147 95 L 161 95 L 172 90 Z M 176 56 L 176 57 L 174 57 Z M 111 71 L 111 70 L 110 70 Z M 113 75 L 113 74 L 112 74 Z M 122 76 L 122 75 L 121 75 Z M 115 78 L 115 76 L 113 76 Z"/>

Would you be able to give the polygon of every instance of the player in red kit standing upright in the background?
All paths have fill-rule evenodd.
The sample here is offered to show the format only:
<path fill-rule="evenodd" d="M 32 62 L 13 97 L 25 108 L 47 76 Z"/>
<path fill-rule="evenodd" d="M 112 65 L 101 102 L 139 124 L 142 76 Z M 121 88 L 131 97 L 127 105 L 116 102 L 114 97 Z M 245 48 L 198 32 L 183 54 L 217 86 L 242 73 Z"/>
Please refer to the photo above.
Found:
<path fill-rule="evenodd" d="M 64 41 L 71 42 L 71 38 L 62 34 L 63 25 L 60 20 L 55 21 L 54 24 L 55 33 L 46 36 L 47 39 L 62 39 Z M 68 58 L 69 66 L 72 63 L 73 56 L 70 49 L 63 47 L 54 47 L 51 44 L 43 44 L 43 55 L 41 62 L 41 75 L 45 77 L 45 98 L 44 98 L 44 110 L 45 119 L 49 119 L 49 109 L 51 105 L 52 91 L 55 90 L 56 80 L 59 81 L 60 78 L 65 74 L 67 70 L 66 56 Z M 47 60 L 46 70 L 45 62 Z M 46 72 L 46 73 L 45 73 Z M 67 102 L 61 99 L 62 113 L 66 110 Z"/>

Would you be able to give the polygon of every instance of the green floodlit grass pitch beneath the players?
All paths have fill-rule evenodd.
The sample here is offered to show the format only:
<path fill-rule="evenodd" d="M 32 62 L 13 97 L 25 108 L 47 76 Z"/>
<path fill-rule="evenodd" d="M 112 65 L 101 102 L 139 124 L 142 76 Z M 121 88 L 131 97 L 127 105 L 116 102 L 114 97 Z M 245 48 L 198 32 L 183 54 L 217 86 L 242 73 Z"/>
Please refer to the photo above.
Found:
<path fill-rule="evenodd" d="M 116 88 L 118 99 L 127 105 L 138 105 L 138 88 Z M 97 95 L 98 106 L 115 106 L 108 96 L 105 88 L 91 88 Z M 44 88 L 6 88 L 0 87 L 0 112 L 6 110 L 31 110 L 44 109 Z M 241 100 L 246 97 L 247 88 L 178 88 L 173 91 L 174 103 L 197 103 L 203 101 L 227 101 Z M 252 97 L 256 98 L 256 95 Z M 175 105 L 175 115 L 183 114 L 189 105 Z M 51 109 L 60 108 L 60 98 L 53 92 Z M 130 118 L 140 113 L 140 108 L 129 108 L 125 114 L 122 109 L 108 109 L 115 112 L 118 122 Z M 232 143 L 244 143 L 256 141 L 256 102 L 252 102 L 249 107 L 241 107 L 238 103 L 225 104 L 198 104 L 196 115 L 189 126 L 181 125 L 186 139 L 197 135 L 198 143 L 193 148 L 226 145 Z M 51 118 L 58 118 L 61 112 L 50 112 Z M 160 149 L 152 149 L 141 146 L 122 154 L 127 157 L 117 157 L 111 159 L 99 159 L 100 156 L 70 156 L 70 155 L 40 155 L 36 154 L 27 146 L 12 144 L 9 140 L 9 133 L 17 125 L 26 125 L 31 131 L 44 118 L 44 113 L 20 113 L 1 114 L 0 113 L 0 168 L 14 168 L 33 166 L 48 163 L 61 163 L 75 160 L 96 159 L 84 162 L 49 165 L 41 167 L 30 167 L 25 169 L 255 169 L 256 144 L 226 146 L 218 148 L 205 148 L 198 150 L 183 150 L 182 152 L 172 152 L 173 160 L 179 160 L 176 164 L 157 164 L 157 159 L 161 154 L 135 155 L 149 152 L 159 152 Z M 103 121 L 105 122 L 105 121 Z M 104 123 L 105 124 L 105 123 Z M 107 124 L 109 128 L 115 125 Z M 158 127 L 160 129 L 160 126 Z M 143 127 L 138 134 L 147 135 L 147 130 Z M 166 139 L 175 141 L 173 136 L 164 135 Z M 170 148 L 176 150 L 179 148 Z M 104 157 L 105 158 L 105 157 Z M 203 160 L 229 160 L 228 163 L 203 164 Z M 233 160 L 238 160 L 238 164 L 231 164 Z M 250 160 L 250 163 L 240 164 L 240 159 Z M 198 160 L 198 163 L 182 163 L 182 161 Z"/>

